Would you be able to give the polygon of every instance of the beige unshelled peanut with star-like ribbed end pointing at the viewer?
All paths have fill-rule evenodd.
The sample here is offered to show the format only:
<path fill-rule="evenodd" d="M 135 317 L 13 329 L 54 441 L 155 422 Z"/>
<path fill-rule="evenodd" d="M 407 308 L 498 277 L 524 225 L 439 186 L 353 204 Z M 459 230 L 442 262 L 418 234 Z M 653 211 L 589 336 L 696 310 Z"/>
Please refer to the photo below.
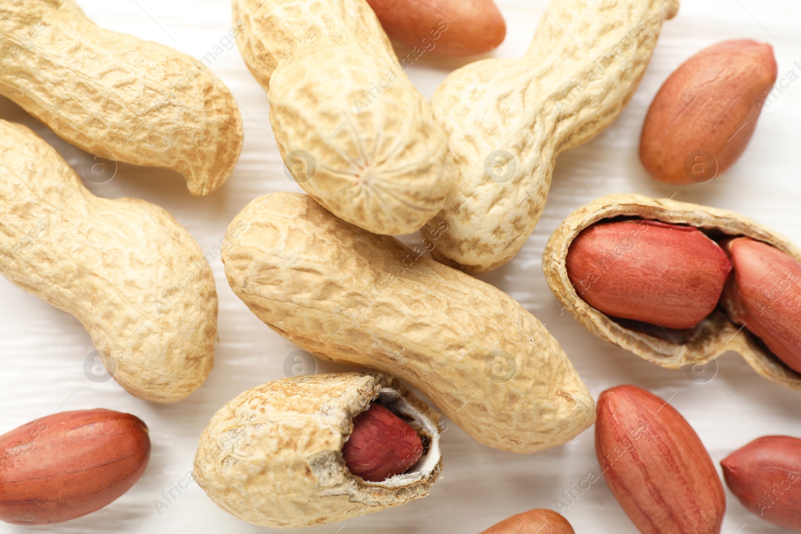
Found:
<path fill-rule="evenodd" d="M 453 159 L 365 0 L 234 0 L 292 177 L 334 215 L 408 234 L 440 211 Z M 435 30 L 436 28 L 432 28 Z"/>

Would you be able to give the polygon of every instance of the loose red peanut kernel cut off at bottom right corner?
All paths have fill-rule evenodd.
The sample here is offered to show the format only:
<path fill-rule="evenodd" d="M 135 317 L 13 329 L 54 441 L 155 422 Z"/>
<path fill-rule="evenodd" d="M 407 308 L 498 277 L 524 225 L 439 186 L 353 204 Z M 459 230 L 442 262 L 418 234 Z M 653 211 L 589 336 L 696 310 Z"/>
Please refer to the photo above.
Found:
<path fill-rule="evenodd" d="M 750 512 L 801 532 L 801 440 L 763 436 L 732 452 L 720 466 L 727 486 Z"/>

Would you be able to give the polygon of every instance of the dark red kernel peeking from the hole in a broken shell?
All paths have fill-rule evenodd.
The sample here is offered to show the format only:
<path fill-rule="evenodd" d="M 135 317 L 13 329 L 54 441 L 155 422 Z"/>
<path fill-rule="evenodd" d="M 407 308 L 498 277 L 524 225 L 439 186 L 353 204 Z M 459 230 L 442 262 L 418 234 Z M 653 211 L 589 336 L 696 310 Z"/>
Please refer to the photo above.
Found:
<path fill-rule="evenodd" d="M 378 403 L 353 418 L 353 432 L 342 448 L 348 471 L 370 482 L 400 475 L 421 456 L 417 432 Z"/>

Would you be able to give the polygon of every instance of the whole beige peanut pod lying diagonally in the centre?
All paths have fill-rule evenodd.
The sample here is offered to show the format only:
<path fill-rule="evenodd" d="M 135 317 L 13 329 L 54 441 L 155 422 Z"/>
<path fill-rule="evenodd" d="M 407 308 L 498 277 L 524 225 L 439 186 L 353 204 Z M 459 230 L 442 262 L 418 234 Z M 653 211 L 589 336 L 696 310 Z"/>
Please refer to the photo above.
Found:
<path fill-rule="evenodd" d="M 233 231 L 223 251 L 231 289 L 312 354 L 405 379 L 470 436 L 506 451 L 562 444 L 593 423 L 594 401 L 562 347 L 496 287 L 307 195 L 256 199 Z"/>

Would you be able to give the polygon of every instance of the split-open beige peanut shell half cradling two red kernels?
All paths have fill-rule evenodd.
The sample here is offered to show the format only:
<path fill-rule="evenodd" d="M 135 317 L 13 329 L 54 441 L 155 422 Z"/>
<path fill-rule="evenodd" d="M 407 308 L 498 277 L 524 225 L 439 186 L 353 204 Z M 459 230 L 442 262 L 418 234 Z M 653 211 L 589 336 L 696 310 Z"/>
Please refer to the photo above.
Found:
<path fill-rule="evenodd" d="M 710 379 L 703 364 L 726 351 L 743 356 L 759 375 L 791 389 L 801 389 L 801 375 L 792 371 L 746 328 L 731 322 L 719 307 L 690 330 L 673 330 L 646 323 L 614 320 L 580 296 L 570 283 L 566 258 L 570 244 L 585 228 L 598 221 L 638 218 L 697 227 L 714 236 L 742 235 L 768 243 L 801 259 L 801 250 L 783 235 L 735 211 L 652 199 L 643 195 L 607 195 L 570 214 L 553 232 L 542 255 L 542 270 L 551 291 L 573 316 L 601 339 L 671 369 L 693 366 L 698 379 Z M 696 372 L 697 371 L 697 372 Z"/>

